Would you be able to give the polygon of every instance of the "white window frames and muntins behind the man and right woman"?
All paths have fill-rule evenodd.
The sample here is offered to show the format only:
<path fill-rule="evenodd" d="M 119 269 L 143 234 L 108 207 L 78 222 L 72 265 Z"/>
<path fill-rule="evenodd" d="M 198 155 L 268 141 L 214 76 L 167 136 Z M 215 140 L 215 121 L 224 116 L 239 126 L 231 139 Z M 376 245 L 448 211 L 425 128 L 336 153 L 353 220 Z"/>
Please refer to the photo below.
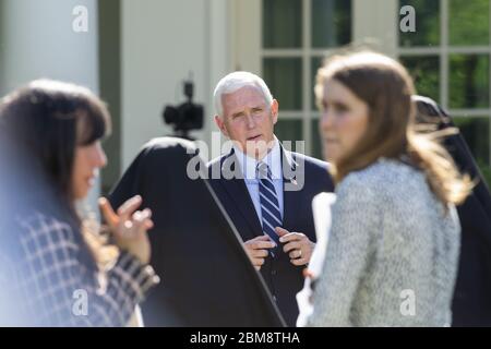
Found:
<path fill-rule="evenodd" d="M 313 91 L 311 88 L 311 58 L 327 56 L 335 49 L 313 49 L 311 44 L 311 0 L 302 1 L 303 7 L 303 43 L 300 49 L 263 49 L 262 48 L 262 0 L 231 0 L 230 3 L 230 47 L 232 50 L 232 67 L 240 70 L 262 74 L 262 59 L 275 58 L 302 58 L 302 110 L 283 110 L 280 107 L 280 120 L 302 120 L 303 140 L 306 141 L 306 153 L 312 151 L 311 121 L 319 119 L 320 113 L 309 110 Z M 490 55 L 489 46 L 463 46 L 448 45 L 448 0 L 440 0 L 440 25 L 441 45 L 438 47 L 399 47 L 399 1 L 398 0 L 351 0 L 351 39 L 356 45 L 367 44 L 370 47 L 398 59 L 400 56 L 434 55 L 440 58 L 440 104 L 451 116 L 458 117 L 483 117 L 490 118 L 491 107 L 480 109 L 448 109 L 448 60 L 453 53 L 487 53 Z M 491 9 L 491 7 L 490 7 Z M 490 10 L 491 11 L 491 10 Z M 416 14 L 418 15 L 418 14 Z M 490 13 L 491 19 L 491 13 Z M 491 22 L 491 21 L 490 21 Z M 370 38 L 370 39 L 367 39 Z M 491 38 L 491 24 L 490 24 Z M 306 59 L 308 58 L 308 59 Z M 307 73 L 306 73 L 307 72 Z M 279 103 L 282 103 L 279 100 Z M 491 76 L 490 76 L 490 103 L 491 103 Z M 300 118 L 299 118 L 300 116 Z M 490 127 L 491 144 L 491 127 Z M 490 159 L 491 165 L 491 149 Z"/>

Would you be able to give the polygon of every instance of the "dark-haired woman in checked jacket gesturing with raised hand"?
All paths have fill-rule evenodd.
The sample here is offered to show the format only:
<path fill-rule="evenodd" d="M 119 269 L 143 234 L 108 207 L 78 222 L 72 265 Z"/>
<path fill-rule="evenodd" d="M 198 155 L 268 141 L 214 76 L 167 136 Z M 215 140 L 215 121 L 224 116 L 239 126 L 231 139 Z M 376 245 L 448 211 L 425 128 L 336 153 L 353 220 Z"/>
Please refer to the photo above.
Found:
<path fill-rule="evenodd" d="M 124 326 L 158 282 L 140 196 L 118 214 L 101 200 L 113 245 L 75 208 L 106 165 L 109 122 L 106 106 L 72 84 L 35 81 L 1 100 L 2 324 Z"/>

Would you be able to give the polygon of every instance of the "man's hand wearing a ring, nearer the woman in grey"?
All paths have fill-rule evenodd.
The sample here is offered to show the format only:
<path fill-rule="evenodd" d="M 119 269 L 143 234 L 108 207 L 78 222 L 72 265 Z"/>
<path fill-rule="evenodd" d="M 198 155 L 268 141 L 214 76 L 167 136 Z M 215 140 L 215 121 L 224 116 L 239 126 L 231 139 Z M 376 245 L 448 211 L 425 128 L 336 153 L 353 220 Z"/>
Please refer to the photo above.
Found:
<path fill-rule="evenodd" d="M 289 232 L 280 227 L 275 228 L 279 242 L 284 244 L 283 251 L 288 253 L 294 265 L 306 265 L 310 262 L 315 243 L 301 232 Z"/>

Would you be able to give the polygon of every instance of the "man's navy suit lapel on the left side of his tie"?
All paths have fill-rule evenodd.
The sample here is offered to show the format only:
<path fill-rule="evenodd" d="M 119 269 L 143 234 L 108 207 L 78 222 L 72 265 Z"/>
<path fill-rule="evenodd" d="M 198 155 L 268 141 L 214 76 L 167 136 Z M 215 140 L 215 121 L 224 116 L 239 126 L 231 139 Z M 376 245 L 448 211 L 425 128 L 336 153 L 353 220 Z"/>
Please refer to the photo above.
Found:
<path fill-rule="evenodd" d="M 249 195 L 248 188 L 242 178 L 242 173 L 237 166 L 238 160 L 231 153 L 224 159 L 221 164 L 221 178 L 220 183 L 225 191 L 230 196 L 235 204 L 235 210 L 237 210 L 249 226 L 249 231 L 240 231 L 244 240 L 253 239 L 262 233 L 261 222 L 259 221 L 258 214 L 255 213 L 254 204 Z M 232 209 L 233 210 L 233 209 Z"/>

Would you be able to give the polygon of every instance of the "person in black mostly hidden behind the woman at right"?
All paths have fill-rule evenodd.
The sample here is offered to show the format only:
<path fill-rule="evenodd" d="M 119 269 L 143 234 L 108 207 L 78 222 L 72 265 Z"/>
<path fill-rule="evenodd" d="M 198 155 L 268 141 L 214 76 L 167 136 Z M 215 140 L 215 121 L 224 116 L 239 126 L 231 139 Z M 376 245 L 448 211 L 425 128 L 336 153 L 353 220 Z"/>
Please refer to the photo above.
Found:
<path fill-rule="evenodd" d="M 454 128 L 451 117 L 430 98 L 416 96 L 421 123 Z M 491 195 L 460 133 L 444 141 L 460 171 L 478 180 L 457 207 L 462 226 L 460 258 L 452 304 L 453 326 L 491 326 Z"/>

